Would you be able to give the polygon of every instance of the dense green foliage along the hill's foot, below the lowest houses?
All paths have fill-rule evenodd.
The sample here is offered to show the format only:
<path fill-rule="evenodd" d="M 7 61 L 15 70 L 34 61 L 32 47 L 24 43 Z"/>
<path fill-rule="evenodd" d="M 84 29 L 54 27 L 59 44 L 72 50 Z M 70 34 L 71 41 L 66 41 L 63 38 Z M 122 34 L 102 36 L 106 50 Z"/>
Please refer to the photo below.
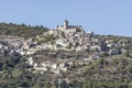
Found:
<path fill-rule="evenodd" d="M 48 54 L 48 51 L 45 51 Z M 29 72 L 25 57 L 20 54 L 3 54 L 0 59 L 0 88 L 32 87 L 32 88 L 131 88 L 132 58 L 113 56 L 100 58 L 85 66 L 80 75 L 70 82 L 51 81 L 50 73 L 33 74 Z M 76 67 L 75 67 L 76 70 Z M 84 81 L 84 80 L 85 81 Z"/>

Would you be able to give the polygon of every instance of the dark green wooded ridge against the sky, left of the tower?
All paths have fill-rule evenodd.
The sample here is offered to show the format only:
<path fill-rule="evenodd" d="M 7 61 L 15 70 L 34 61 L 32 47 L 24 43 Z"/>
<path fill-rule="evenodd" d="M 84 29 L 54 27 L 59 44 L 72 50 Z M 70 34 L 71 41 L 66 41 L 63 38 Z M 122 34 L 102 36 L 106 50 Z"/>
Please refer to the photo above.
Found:
<path fill-rule="evenodd" d="M 41 35 L 48 29 L 40 26 L 31 26 L 25 24 L 0 23 L 0 35 L 21 36 L 24 38 Z"/>

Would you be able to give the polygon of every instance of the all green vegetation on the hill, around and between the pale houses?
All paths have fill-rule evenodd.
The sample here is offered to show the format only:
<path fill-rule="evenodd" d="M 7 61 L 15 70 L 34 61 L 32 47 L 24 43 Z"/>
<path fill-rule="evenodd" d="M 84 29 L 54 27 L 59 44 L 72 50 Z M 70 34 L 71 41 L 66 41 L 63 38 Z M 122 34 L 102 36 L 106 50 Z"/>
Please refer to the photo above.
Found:
<path fill-rule="evenodd" d="M 51 42 L 54 45 L 58 36 L 42 35 L 47 30 L 44 26 L 0 23 L 0 35 L 33 37 L 37 44 Z M 34 37 L 37 35 L 38 37 Z M 62 36 L 65 37 L 64 33 Z M 9 54 L 6 50 L 1 50 L 0 88 L 132 88 L 132 38 L 112 35 L 96 35 L 96 37 L 111 38 L 114 42 L 121 40 L 120 42 L 127 43 L 122 46 L 127 52 L 120 55 L 103 53 L 100 58 L 84 61 L 87 64 L 81 65 L 80 61 L 88 58 L 95 52 L 42 50 L 31 56 L 21 56 L 19 53 Z M 72 46 L 70 43 L 67 48 Z M 118 46 L 118 50 L 122 47 Z M 67 72 L 61 72 L 61 75 L 51 72 L 41 74 L 30 70 L 31 66 L 25 61 L 28 57 L 33 57 L 35 63 L 67 59 L 73 59 L 74 63 L 73 65 L 66 64 Z"/>

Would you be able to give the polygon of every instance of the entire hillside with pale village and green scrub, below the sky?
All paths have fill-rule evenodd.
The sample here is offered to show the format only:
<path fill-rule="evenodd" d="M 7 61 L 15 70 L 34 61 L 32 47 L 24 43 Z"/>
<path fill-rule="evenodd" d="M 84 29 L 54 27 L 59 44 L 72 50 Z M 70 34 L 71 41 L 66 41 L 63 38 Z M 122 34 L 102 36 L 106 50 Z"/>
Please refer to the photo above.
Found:
<path fill-rule="evenodd" d="M 0 23 L 0 88 L 132 88 L 132 37 L 62 28 Z"/>

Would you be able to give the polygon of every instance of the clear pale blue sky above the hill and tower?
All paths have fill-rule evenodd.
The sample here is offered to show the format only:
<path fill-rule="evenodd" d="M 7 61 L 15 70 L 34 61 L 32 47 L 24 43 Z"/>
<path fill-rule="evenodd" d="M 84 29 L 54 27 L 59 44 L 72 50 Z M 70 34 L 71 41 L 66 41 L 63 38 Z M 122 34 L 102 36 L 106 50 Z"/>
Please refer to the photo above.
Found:
<path fill-rule="evenodd" d="M 86 32 L 132 36 L 132 0 L 0 0 L 0 22 L 54 29 L 65 19 Z"/>

